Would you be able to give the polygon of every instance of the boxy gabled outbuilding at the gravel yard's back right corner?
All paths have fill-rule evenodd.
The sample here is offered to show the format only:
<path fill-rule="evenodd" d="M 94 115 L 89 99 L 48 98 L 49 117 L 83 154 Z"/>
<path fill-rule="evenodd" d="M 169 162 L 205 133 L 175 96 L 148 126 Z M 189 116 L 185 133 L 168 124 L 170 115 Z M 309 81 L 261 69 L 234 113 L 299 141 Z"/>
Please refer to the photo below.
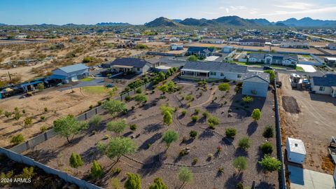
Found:
<path fill-rule="evenodd" d="M 242 94 L 248 96 L 267 97 L 269 73 L 248 72 L 243 76 Z"/>

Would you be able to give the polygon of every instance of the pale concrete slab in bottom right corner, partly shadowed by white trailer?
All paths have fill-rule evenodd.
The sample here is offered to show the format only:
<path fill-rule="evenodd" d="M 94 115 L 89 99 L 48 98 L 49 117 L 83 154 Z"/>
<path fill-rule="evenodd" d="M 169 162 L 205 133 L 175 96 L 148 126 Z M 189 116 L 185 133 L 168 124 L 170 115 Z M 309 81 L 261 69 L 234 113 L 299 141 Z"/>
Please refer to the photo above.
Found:
<path fill-rule="evenodd" d="M 288 165 L 290 188 L 292 189 L 332 189 L 335 181 L 330 174 L 314 172 Z"/>

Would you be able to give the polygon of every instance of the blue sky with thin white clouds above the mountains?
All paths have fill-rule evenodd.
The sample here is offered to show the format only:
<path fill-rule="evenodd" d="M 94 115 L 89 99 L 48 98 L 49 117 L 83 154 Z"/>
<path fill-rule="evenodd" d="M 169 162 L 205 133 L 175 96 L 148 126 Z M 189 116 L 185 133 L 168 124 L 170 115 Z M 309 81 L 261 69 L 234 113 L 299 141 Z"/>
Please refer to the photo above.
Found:
<path fill-rule="evenodd" d="M 311 17 L 336 20 L 335 0 L 0 0 L 0 23 L 144 24 L 160 16 L 171 19 L 266 18 L 270 21 Z"/>

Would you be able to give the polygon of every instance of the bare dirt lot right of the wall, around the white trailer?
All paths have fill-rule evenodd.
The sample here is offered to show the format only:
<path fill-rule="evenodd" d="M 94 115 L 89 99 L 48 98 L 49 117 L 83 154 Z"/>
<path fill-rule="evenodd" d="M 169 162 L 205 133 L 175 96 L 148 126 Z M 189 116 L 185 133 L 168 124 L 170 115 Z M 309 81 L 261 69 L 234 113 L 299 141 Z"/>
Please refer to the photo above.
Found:
<path fill-rule="evenodd" d="M 289 75 L 280 73 L 279 77 L 283 83 L 279 90 L 283 146 L 286 137 L 302 139 L 307 151 L 304 168 L 332 174 L 334 166 L 328 157 L 327 146 L 330 137 L 336 133 L 336 99 L 292 90 Z M 288 100 L 290 104 L 286 103 Z"/>

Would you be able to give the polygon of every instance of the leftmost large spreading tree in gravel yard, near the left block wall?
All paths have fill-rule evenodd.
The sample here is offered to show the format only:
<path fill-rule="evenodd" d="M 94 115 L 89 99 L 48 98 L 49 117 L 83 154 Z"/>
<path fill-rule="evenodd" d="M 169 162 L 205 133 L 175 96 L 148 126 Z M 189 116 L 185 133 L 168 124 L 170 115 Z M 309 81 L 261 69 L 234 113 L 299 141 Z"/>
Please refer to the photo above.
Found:
<path fill-rule="evenodd" d="M 78 121 L 74 116 L 68 115 L 55 120 L 52 129 L 59 134 L 59 136 L 66 137 L 66 141 L 71 143 L 73 137 L 82 130 L 87 129 L 87 127 L 87 123 Z"/>

